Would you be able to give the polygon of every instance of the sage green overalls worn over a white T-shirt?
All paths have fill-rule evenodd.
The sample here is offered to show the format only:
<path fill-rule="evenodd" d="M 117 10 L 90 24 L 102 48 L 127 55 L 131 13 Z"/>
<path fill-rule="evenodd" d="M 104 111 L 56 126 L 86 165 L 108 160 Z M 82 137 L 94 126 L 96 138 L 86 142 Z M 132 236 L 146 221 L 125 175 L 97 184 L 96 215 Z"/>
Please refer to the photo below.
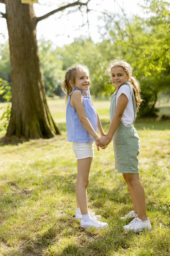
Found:
<path fill-rule="evenodd" d="M 125 82 L 130 88 L 134 108 L 134 120 L 136 119 L 136 101 L 133 89 L 128 82 Z M 113 120 L 116 110 L 116 94 L 111 95 L 110 119 Z M 115 169 L 120 173 L 139 173 L 138 154 L 140 150 L 140 139 L 133 124 L 126 127 L 120 121 L 119 126 L 113 135 L 113 148 Z"/>

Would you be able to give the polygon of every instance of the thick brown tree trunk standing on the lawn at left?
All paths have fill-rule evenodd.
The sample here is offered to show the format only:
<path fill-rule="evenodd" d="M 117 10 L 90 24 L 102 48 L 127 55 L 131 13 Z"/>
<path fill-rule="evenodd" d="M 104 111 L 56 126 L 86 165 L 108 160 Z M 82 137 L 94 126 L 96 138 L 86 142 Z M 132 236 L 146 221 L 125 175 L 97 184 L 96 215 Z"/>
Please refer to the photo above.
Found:
<path fill-rule="evenodd" d="M 11 58 L 12 106 L 6 137 L 60 134 L 48 109 L 40 68 L 33 4 L 5 0 Z"/>

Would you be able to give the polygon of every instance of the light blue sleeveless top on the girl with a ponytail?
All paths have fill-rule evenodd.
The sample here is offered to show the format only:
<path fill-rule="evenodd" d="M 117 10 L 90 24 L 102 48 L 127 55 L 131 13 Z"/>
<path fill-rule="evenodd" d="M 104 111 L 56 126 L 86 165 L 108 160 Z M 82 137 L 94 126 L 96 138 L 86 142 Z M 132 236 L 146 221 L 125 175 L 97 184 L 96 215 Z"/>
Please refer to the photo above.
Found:
<path fill-rule="evenodd" d="M 94 137 L 91 136 L 79 120 L 76 108 L 71 107 L 70 98 L 74 90 L 80 90 L 82 95 L 83 91 L 74 87 L 71 94 L 68 96 L 66 107 L 66 125 L 67 125 L 67 140 L 70 142 L 92 143 Z M 88 91 L 85 91 L 86 96 L 82 96 L 82 104 L 85 109 L 85 115 L 90 121 L 94 131 L 97 131 L 97 115 L 94 105 L 91 102 L 91 97 L 88 96 Z"/>

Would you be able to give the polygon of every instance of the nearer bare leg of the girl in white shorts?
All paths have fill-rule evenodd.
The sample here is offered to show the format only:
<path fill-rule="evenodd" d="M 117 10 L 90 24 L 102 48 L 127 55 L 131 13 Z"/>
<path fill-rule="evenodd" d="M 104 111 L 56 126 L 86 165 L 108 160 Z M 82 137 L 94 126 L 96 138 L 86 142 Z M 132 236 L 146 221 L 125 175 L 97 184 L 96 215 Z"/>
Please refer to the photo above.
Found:
<path fill-rule="evenodd" d="M 92 157 L 77 160 L 76 200 L 82 215 L 88 214 L 87 187 L 92 160 Z"/>

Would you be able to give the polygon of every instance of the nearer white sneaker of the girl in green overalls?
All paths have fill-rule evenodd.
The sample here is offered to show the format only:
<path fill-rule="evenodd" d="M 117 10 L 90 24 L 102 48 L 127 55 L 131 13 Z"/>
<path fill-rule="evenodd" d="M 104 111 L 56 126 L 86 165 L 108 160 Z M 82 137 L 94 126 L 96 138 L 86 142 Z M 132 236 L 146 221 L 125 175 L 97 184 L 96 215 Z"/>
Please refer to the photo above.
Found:
<path fill-rule="evenodd" d="M 133 221 L 131 221 L 129 224 L 123 226 L 125 231 L 134 231 L 139 232 L 143 231 L 144 229 L 151 229 L 152 226 L 150 224 L 149 218 L 147 218 L 147 222 L 143 222 L 138 217 L 134 218 Z"/>

